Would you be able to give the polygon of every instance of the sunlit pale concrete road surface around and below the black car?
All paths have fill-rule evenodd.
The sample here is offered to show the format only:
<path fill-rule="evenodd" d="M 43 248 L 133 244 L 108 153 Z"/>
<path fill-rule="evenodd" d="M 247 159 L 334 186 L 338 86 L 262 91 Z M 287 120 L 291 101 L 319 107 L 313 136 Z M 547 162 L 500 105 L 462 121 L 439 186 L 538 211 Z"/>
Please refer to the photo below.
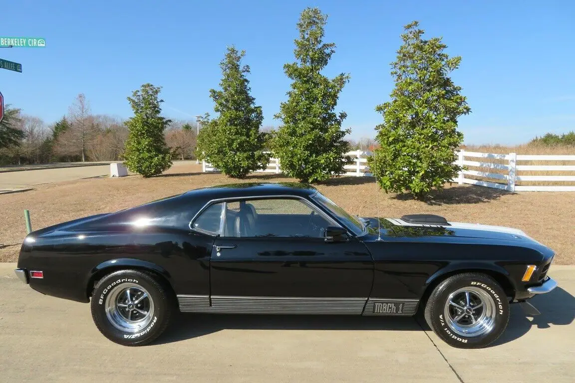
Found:
<path fill-rule="evenodd" d="M 493 347 L 447 346 L 412 318 L 180 315 L 157 343 L 124 347 L 88 304 L 41 295 L 0 264 L 0 382 L 575 381 L 575 267 Z"/>

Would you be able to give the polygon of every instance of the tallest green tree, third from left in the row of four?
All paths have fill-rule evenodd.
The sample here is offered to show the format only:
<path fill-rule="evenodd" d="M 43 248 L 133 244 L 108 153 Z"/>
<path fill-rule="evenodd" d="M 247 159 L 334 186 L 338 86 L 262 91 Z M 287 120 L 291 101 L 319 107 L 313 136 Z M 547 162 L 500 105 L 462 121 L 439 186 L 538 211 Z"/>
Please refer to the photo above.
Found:
<path fill-rule="evenodd" d="M 281 103 L 275 115 L 283 122 L 274 138 L 275 156 L 282 171 L 304 182 L 326 180 L 344 172 L 350 158 L 342 160 L 349 144 L 342 130 L 347 114 L 335 113 L 339 94 L 350 76 L 341 73 L 333 79 L 321 74 L 335 52 L 333 42 L 323 42 L 327 15 L 318 8 L 302 11 L 295 40 L 296 62 L 283 65 L 292 80 L 287 102 Z"/>

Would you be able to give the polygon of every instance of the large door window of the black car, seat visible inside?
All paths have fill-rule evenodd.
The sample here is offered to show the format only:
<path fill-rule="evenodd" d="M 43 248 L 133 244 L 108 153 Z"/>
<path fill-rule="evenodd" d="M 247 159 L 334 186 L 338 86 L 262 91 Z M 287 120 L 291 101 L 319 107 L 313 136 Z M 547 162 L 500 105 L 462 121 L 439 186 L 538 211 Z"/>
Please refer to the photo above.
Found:
<path fill-rule="evenodd" d="M 228 202 L 225 237 L 323 238 L 328 221 L 298 199 L 273 198 Z"/>

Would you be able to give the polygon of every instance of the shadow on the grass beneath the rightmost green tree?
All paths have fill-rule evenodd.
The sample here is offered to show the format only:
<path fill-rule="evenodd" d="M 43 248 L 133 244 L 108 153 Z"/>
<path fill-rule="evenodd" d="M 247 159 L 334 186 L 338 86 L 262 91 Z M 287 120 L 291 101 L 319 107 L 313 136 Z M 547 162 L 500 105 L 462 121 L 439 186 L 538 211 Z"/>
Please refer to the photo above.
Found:
<path fill-rule="evenodd" d="M 456 186 L 442 190 L 434 190 L 423 202 L 431 206 L 485 203 L 499 199 L 501 196 L 513 194 L 515 193 L 483 186 Z M 394 198 L 400 201 L 414 199 L 411 193 L 397 194 Z"/>

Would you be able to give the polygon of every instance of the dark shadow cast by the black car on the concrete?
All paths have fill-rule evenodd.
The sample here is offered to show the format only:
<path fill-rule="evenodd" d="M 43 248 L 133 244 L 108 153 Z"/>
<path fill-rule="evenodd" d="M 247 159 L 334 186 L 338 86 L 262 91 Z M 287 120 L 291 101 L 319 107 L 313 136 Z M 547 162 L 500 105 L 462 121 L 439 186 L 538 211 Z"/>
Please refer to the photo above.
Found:
<path fill-rule="evenodd" d="M 575 297 L 562 288 L 530 300 L 540 315 L 526 316 L 518 304 L 511 305 L 507 330 L 493 345 L 499 346 L 527 334 L 532 327 L 566 326 L 575 319 Z M 221 330 L 370 330 L 428 331 L 423 316 L 325 316 L 325 315 L 240 315 L 178 313 L 155 345 L 185 341 Z"/>

